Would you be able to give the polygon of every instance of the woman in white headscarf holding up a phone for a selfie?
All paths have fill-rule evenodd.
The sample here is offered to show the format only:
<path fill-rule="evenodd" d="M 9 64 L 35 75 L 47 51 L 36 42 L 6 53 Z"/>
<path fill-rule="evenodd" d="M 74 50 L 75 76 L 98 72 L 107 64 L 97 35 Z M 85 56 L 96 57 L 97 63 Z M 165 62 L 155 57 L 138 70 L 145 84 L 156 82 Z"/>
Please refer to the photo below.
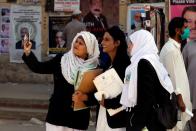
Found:
<path fill-rule="evenodd" d="M 97 68 L 99 47 L 95 36 L 87 31 L 78 33 L 68 53 L 58 54 L 45 62 L 37 60 L 31 52 L 31 47 L 32 43 L 24 40 L 23 60 L 27 66 L 33 72 L 54 76 L 54 92 L 46 117 L 46 131 L 86 130 L 89 125 L 90 109 L 86 107 L 74 111 L 72 101 L 88 100 L 88 94 L 76 97 L 74 92 L 81 82 L 79 76 L 82 77 L 81 74 Z"/>

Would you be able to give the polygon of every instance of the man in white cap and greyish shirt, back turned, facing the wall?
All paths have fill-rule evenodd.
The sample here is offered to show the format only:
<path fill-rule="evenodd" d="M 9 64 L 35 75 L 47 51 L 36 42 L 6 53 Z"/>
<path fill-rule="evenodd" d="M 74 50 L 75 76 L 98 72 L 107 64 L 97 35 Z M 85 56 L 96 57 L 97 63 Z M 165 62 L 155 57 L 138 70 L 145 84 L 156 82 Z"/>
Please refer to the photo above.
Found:
<path fill-rule="evenodd" d="M 86 30 L 86 26 L 82 23 L 82 12 L 80 10 L 74 10 L 72 20 L 67 23 L 63 31 L 67 51 L 71 49 L 71 44 L 76 34 L 84 30 Z"/>

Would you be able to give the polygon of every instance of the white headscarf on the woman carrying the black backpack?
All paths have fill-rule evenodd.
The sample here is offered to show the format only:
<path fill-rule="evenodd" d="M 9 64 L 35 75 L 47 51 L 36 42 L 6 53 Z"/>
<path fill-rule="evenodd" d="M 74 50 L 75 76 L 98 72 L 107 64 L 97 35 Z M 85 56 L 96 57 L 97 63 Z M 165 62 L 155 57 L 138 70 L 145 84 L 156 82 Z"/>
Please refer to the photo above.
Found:
<path fill-rule="evenodd" d="M 154 67 L 161 85 L 171 94 L 174 92 L 172 82 L 163 64 L 159 61 L 158 49 L 152 34 L 146 30 L 138 30 L 129 36 L 133 44 L 131 64 L 126 68 L 126 76 L 130 76 L 128 84 L 123 87 L 120 103 L 125 107 L 137 104 L 137 67 L 141 59 L 148 60 Z"/>

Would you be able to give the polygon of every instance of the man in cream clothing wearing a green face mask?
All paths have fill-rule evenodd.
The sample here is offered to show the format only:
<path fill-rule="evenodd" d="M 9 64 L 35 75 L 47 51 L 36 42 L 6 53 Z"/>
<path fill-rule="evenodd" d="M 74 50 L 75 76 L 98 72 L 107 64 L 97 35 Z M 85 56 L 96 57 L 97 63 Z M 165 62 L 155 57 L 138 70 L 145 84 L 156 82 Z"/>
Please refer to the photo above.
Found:
<path fill-rule="evenodd" d="M 184 32 L 187 29 L 187 20 L 182 17 L 173 18 L 168 26 L 169 40 L 160 52 L 160 61 L 169 73 L 175 93 L 177 95 L 178 107 L 181 120 L 171 131 L 183 131 L 186 122 L 190 116 L 185 112 L 186 109 L 192 110 L 190 102 L 190 89 L 188 77 L 181 54 L 181 42 L 184 38 Z"/>

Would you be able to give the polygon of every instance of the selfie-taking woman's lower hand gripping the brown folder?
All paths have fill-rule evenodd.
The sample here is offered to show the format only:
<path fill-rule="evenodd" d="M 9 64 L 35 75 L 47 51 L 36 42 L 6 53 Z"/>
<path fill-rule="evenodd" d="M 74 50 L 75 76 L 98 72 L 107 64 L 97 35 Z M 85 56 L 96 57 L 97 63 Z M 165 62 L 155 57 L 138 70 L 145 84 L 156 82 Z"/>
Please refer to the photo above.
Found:
<path fill-rule="evenodd" d="M 75 91 L 75 93 L 72 95 L 72 101 L 74 103 L 80 103 L 88 100 L 88 96 L 85 93 L 82 93 L 81 91 Z"/>

